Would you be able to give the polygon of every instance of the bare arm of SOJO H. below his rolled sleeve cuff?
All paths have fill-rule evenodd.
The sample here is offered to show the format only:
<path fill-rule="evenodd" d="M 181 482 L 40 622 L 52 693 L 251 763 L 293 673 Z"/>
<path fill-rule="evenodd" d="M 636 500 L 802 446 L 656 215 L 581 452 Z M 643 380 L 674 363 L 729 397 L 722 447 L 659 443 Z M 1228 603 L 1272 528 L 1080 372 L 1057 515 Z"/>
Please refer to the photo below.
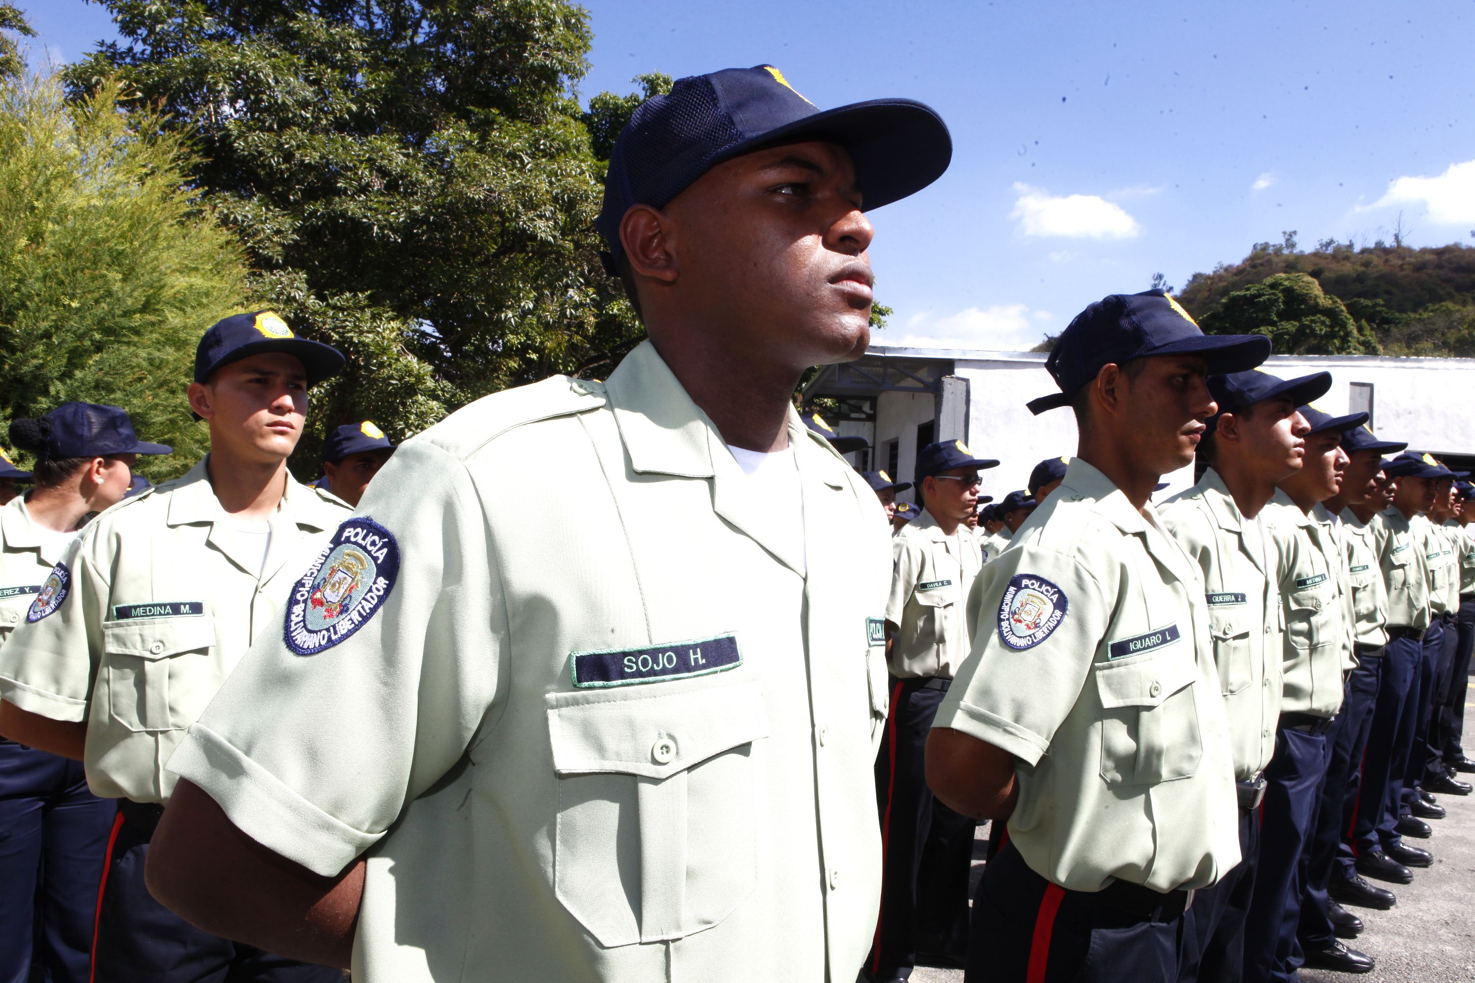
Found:
<path fill-rule="evenodd" d="M 276 955 L 348 968 L 364 865 L 320 877 L 242 833 L 198 786 L 180 781 L 149 844 L 145 878 L 198 928 Z"/>

